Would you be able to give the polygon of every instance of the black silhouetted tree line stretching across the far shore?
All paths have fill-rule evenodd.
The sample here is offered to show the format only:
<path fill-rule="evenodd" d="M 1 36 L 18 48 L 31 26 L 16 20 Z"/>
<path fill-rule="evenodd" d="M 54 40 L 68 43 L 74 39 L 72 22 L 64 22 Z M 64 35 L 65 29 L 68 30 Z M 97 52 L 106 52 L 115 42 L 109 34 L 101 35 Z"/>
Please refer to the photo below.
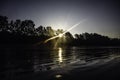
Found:
<path fill-rule="evenodd" d="M 53 30 L 52 27 L 39 26 L 35 28 L 32 20 L 15 21 L 8 20 L 6 16 L 0 16 L 0 44 L 35 44 L 44 42 L 46 39 L 63 33 L 63 29 Z M 120 45 L 120 39 L 109 38 L 97 33 L 75 34 L 66 32 L 63 37 L 49 41 L 47 44 L 66 46 L 91 46 L 91 45 Z"/>

